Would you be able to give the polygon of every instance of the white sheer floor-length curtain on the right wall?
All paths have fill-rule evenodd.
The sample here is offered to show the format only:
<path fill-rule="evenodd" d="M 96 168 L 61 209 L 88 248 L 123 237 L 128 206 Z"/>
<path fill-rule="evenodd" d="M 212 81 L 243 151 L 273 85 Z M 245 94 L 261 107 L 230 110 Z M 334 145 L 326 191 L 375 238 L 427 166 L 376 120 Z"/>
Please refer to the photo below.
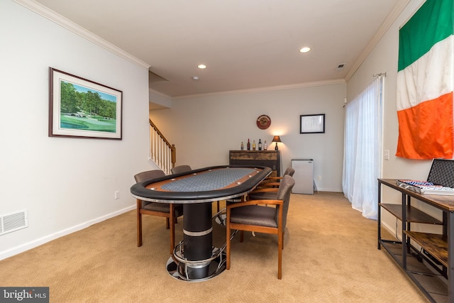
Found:
<path fill-rule="evenodd" d="M 377 219 L 377 178 L 382 167 L 382 84 L 375 80 L 345 105 L 342 187 L 353 209 Z"/>

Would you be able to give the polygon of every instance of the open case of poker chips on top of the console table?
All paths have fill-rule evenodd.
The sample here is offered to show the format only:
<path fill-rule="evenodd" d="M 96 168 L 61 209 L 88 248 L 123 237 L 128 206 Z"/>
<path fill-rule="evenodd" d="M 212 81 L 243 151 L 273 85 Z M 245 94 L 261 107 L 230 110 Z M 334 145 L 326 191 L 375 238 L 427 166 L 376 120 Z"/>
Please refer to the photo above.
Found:
<path fill-rule="evenodd" d="M 419 194 L 454 195 L 454 160 L 433 159 L 427 181 L 399 179 L 396 183 Z"/>

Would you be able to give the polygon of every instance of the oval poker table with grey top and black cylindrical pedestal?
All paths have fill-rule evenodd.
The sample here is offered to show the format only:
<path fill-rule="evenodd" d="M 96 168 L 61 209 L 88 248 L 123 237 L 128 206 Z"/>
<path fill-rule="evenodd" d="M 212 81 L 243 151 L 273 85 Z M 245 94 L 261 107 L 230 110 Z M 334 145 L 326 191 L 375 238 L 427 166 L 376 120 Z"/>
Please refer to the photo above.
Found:
<path fill-rule="evenodd" d="M 183 204 L 183 241 L 167 261 L 167 272 L 178 280 L 198 282 L 225 270 L 224 248 L 213 247 L 211 202 L 236 201 L 270 175 L 270 167 L 225 165 L 138 182 L 137 199 Z"/>

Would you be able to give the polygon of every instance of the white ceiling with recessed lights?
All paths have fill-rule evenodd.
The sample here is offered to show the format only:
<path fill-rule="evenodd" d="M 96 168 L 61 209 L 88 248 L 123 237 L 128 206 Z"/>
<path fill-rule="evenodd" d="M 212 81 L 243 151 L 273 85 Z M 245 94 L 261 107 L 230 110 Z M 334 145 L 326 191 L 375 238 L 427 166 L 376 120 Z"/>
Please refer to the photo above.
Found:
<path fill-rule="evenodd" d="M 168 97 L 348 80 L 409 2 L 36 1 L 150 65 Z"/>

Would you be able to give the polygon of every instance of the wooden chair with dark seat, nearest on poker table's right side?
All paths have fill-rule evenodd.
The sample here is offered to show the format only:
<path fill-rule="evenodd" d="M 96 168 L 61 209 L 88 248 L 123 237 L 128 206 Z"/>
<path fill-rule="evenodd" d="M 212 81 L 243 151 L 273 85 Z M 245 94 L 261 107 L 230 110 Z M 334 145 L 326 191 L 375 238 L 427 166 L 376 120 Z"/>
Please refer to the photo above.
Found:
<path fill-rule="evenodd" d="M 284 230 L 287 225 L 290 194 L 295 184 L 293 177 L 284 175 L 280 182 L 277 199 L 247 200 L 227 205 L 226 217 L 226 269 L 231 265 L 231 231 L 240 231 L 240 242 L 243 242 L 243 231 L 272 233 L 277 235 L 277 278 L 282 279 L 282 250 L 284 249 Z M 263 205 L 275 205 L 264 207 Z"/>

